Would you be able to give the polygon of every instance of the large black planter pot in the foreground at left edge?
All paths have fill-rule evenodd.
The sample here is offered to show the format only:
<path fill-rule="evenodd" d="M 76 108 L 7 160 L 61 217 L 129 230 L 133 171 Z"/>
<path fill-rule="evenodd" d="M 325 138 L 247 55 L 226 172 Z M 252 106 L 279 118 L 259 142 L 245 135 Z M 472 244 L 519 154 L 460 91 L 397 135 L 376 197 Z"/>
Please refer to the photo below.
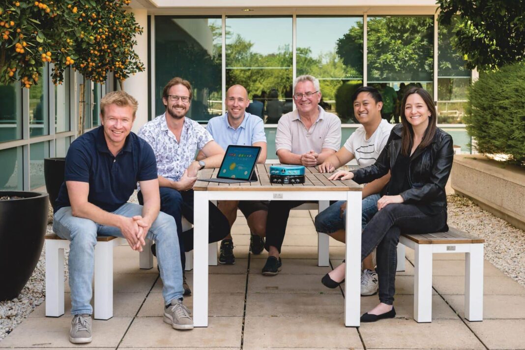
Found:
<path fill-rule="evenodd" d="M 35 270 L 47 227 L 48 194 L 0 191 L 0 301 L 16 298 Z"/>

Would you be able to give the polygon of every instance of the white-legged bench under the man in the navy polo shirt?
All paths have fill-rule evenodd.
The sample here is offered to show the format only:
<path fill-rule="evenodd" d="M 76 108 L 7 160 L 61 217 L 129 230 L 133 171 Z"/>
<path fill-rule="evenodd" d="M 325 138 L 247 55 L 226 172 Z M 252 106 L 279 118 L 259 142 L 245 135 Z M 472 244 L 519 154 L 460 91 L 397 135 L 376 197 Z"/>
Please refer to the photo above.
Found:
<path fill-rule="evenodd" d="M 95 307 L 97 320 L 113 317 L 113 248 L 128 245 L 123 238 L 98 236 L 95 246 Z M 64 250 L 69 241 L 56 234 L 46 235 L 46 316 L 59 317 L 64 314 Z M 153 267 L 151 241 L 146 240 L 139 254 L 141 269 Z"/>

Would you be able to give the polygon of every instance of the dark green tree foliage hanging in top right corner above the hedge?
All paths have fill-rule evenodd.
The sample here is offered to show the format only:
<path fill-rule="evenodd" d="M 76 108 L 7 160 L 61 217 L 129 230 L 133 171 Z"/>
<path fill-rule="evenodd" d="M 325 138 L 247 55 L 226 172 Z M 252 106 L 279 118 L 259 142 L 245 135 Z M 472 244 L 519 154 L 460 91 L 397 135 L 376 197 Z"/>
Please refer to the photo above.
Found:
<path fill-rule="evenodd" d="M 437 0 L 440 25 L 454 24 L 455 46 L 469 69 L 492 70 L 525 59 L 525 2 Z"/>

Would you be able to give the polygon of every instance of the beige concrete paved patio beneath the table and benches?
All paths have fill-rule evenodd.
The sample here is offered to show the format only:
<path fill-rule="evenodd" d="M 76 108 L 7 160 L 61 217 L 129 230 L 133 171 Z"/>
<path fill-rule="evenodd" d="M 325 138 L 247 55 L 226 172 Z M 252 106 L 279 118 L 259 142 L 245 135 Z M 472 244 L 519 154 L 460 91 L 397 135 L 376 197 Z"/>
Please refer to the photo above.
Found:
<path fill-rule="evenodd" d="M 434 256 L 433 322 L 413 318 L 413 251 L 397 274 L 396 318 L 343 325 L 343 294 L 321 285 L 329 267 L 317 266 L 315 211 L 292 211 L 279 275 L 260 274 L 267 255 L 248 255 L 246 220 L 233 228 L 236 264 L 211 266 L 209 326 L 175 331 L 162 321 L 161 281 L 156 267 L 139 270 L 139 256 L 127 246 L 114 252 L 114 317 L 93 322 L 93 341 L 84 348 L 355 348 L 355 349 L 525 349 L 525 288 L 485 262 L 484 321 L 463 315 L 463 254 Z M 344 246 L 331 241 L 332 264 Z M 188 273 L 192 285 L 192 272 Z M 45 317 L 45 304 L 0 341 L 0 348 L 79 348 L 68 341 L 71 317 Z M 366 312 L 377 296 L 361 298 Z M 185 298 L 192 307 L 192 297 Z"/>

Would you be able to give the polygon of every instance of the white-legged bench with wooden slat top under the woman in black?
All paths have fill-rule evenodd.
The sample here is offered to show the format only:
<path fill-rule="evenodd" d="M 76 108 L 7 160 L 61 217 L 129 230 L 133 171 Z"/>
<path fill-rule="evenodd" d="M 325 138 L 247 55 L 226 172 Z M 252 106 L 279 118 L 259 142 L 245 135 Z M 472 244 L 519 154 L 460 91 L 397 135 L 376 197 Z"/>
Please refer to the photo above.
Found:
<path fill-rule="evenodd" d="M 432 322 L 434 253 L 465 253 L 465 318 L 483 320 L 484 239 L 451 227 L 448 232 L 402 233 L 400 243 L 414 250 L 414 320 Z M 397 260 L 404 261 L 404 254 L 400 256 L 399 251 Z"/>

